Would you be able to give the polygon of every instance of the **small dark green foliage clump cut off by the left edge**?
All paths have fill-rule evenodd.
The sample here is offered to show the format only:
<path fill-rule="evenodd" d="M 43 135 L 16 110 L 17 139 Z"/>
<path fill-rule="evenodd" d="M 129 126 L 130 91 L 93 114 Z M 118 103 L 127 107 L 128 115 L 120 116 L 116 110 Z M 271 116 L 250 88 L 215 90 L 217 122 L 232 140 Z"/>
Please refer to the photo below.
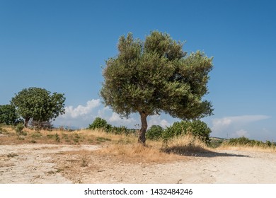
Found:
<path fill-rule="evenodd" d="M 16 124 L 18 118 L 16 108 L 13 105 L 0 105 L 0 123 L 13 125 Z"/>

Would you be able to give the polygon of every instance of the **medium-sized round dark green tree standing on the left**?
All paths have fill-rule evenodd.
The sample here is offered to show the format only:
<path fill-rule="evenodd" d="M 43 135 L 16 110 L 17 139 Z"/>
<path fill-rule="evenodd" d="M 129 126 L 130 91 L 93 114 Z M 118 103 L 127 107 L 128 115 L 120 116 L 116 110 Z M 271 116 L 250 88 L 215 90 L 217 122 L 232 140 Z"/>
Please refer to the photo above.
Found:
<path fill-rule="evenodd" d="M 33 119 L 37 122 L 48 122 L 64 114 L 64 94 L 50 93 L 44 88 L 25 88 L 11 99 L 18 115 L 25 120 L 25 127 Z"/>

